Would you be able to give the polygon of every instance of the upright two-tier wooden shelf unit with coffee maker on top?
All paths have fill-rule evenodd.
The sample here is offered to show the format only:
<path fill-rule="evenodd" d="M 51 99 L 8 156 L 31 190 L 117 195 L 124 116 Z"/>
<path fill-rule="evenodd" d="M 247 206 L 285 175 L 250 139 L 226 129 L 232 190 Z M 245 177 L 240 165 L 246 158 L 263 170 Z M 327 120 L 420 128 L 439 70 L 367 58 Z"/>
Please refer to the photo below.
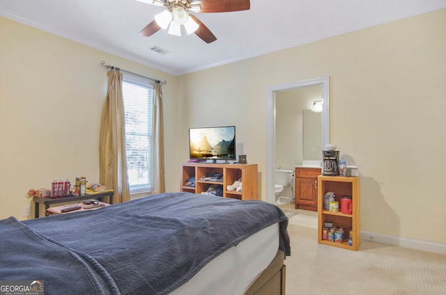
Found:
<path fill-rule="evenodd" d="M 339 212 L 330 212 L 323 207 L 324 196 L 328 191 L 334 193 L 334 200 L 339 202 Z M 351 196 L 353 201 L 352 214 L 341 212 L 341 197 Z M 360 177 L 318 176 L 318 243 L 357 250 L 361 244 L 360 232 Z M 322 239 L 325 221 L 332 221 L 334 226 L 344 228 L 344 241 L 337 243 Z M 352 245 L 348 245 L 348 231 L 352 230 Z"/>

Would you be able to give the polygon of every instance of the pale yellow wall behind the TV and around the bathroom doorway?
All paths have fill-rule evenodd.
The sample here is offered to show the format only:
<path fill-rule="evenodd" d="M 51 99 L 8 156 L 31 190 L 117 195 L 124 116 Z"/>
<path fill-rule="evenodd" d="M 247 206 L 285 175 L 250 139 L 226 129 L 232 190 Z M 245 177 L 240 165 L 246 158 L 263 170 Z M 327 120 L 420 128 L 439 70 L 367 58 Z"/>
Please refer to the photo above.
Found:
<path fill-rule="evenodd" d="M 187 74 L 179 136 L 236 125 L 265 200 L 266 89 L 324 76 L 331 141 L 361 166 L 362 231 L 446 243 L 445 9 Z"/>

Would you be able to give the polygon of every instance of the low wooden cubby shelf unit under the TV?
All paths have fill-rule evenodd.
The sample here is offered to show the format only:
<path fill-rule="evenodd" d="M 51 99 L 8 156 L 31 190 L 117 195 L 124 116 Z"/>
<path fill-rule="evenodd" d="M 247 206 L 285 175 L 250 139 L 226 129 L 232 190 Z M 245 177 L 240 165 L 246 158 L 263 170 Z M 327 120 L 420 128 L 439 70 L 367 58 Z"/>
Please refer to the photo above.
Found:
<path fill-rule="evenodd" d="M 201 180 L 209 173 L 221 173 L 222 182 Z M 223 197 L 238 200 L 257 200 L 257 164 L 211 164 L 211 163 L 182 163 L 180 191 L 190 193 L 203 193 L 208 191 L 212 184 L 223 186 Z M 186 186 L 186 180 L 195 177 L 195 187 Z M 226 186 L 232 185 L 236 180 L 242 180 L 242 191 L 226 191 Z"/>

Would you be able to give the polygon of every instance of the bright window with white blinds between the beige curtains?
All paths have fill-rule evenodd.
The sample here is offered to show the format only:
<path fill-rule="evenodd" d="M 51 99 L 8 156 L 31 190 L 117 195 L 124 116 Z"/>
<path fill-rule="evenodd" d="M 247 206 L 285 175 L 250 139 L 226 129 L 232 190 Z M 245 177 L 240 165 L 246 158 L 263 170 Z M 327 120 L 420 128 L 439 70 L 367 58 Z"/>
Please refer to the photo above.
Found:
<path fill-rule="evenodd" d="M 125 152 L 130 193 L 151 191 L 153 82 L 123 73 Z"/>

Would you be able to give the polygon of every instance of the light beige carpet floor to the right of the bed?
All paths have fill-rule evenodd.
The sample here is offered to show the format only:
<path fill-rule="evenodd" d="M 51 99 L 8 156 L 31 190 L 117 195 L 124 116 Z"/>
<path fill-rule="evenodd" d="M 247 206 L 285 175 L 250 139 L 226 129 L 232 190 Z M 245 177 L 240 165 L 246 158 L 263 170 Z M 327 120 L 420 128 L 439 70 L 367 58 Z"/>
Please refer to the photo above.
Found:
<path fill-rule="evenodd" d="M 317 244 L 314 221 L 298 215 L 288 228 L 286 294 L 446 294 L 446 255 L 371 241 L 362 241 L 358 251 Z"/>

